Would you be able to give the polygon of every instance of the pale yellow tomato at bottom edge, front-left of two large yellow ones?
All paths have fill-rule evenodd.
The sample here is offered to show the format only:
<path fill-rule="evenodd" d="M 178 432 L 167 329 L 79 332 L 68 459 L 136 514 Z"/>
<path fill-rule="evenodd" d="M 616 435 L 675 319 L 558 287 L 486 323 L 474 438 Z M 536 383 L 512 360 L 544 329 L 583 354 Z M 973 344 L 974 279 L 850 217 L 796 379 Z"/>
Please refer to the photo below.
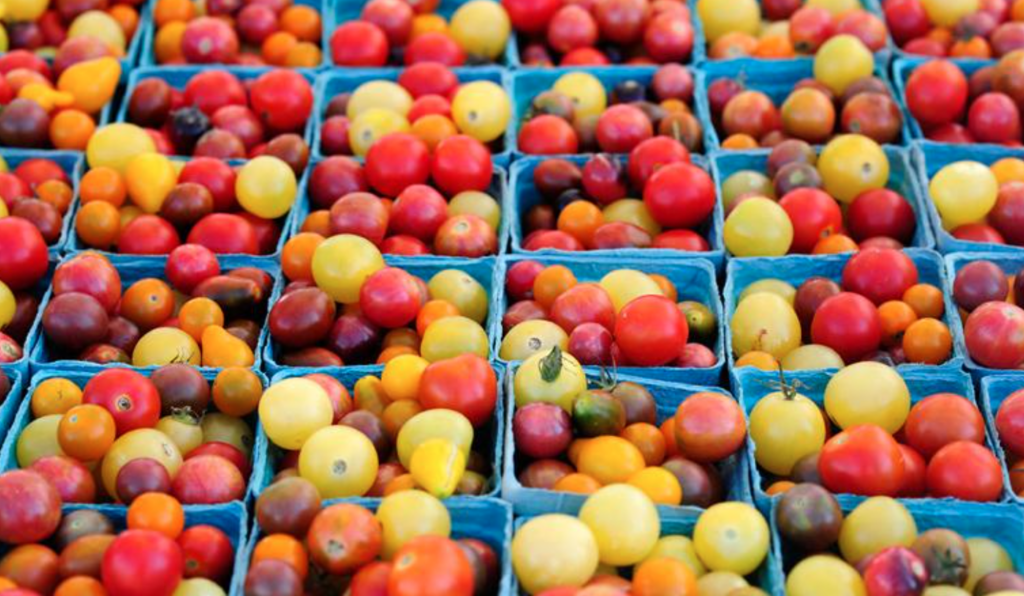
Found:
<path fill-rule="evenodd" d="M 579 588 L 597 570 L 594 533 L 560 513 L 530 519 L 512 538 L 512 568 L 527 594 L 549 588 Z"/>

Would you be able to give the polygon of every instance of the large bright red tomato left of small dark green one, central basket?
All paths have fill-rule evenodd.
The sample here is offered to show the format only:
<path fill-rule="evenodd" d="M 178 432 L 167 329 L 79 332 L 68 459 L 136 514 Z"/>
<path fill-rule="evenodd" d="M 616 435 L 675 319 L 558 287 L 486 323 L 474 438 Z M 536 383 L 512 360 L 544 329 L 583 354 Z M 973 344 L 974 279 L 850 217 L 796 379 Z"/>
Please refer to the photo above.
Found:
<path fill-rule="evenodd" d="M 689 337 L 686 317 L 664 296 L 641 296 L 618 312 L 615 343 L 626 358 L 641 367 L 659 367 L 682 353 Z"/>

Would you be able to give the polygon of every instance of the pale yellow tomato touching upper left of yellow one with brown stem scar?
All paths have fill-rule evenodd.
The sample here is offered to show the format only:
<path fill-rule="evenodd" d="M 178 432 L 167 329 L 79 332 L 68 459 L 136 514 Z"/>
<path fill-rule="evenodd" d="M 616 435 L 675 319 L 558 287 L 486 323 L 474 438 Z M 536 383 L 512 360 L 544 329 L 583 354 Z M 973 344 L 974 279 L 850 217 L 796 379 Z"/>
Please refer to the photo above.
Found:
<path fill-rule="evenodd" d="M 263 392 L 259 419 L 271 442 L 282 449 L 297 450 L 314 432 L 331 426 L 334 408 L 327 391 L 313 381 L 285 379 Z"/>

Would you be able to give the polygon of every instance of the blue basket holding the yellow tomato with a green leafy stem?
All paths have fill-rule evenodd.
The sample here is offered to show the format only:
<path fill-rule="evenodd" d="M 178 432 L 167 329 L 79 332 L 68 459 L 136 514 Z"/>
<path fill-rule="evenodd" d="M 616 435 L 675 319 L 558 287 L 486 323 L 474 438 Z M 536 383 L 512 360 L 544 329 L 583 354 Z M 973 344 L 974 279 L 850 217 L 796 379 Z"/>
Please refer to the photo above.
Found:
<path fill-rule="evenodd" d="M 584 501 L 587 500 L 586 495 L 543 488 L 527 488 L 519 481 L 515 455 L 515 437 L 512 433 L 512 420 L 515 417 L 515 389 L 513 388 L 513 382 L 515 372 L 519 366 L 520 363 L 509 365 L 508 373 L 505 376 L 505 393 L 508 396 L 508 407 L 505 412 L 505 469 L 502 477 L 502 498 L 512 503 L 516 515 L 541 515 L 543 513 L 575 514 Z M 596 382 L 601 378 L 601 375 L 596 371 L 586 370 L 586 373 L 590 381 Z M 654 401 L 657 403 L 658 425 L 675 416 L 679 405 L 694 393 L 714 392 L 732 397 L 728 391 L 718 387 L 656 381 L 627 375 L 618 375 L 616 376 L 616 380 L 639 383 L 650 391 L 654 396 Z M 743 446 L 735 455 L 717 465 L 722 475 L 725 499 L 728 501 L 751 502 L 751 486 L 749 472 L 746 471 L 748 458 L 744 453 L 745 451 L 746 446 Z M 663 515 L 676 512 L 694 517 L 703 511 L 700 507 L 693 505 L 679 507 L 658 505 L 657 509 Z"/>

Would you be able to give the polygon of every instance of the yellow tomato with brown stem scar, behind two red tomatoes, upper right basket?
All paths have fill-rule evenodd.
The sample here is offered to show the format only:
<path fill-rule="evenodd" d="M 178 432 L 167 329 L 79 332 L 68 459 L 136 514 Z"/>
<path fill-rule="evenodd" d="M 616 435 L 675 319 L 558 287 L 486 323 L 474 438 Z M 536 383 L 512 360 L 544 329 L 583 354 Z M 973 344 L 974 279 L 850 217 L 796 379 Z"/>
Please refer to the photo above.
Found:
<path fill-rule="evenodd" d="M 821 150 L 818 172 L 825 190 L 837 201 L 849 204 L 862 193 L 885 188 L 889 182 L 889 158 L 870 138 L 844 134 Z"/>

